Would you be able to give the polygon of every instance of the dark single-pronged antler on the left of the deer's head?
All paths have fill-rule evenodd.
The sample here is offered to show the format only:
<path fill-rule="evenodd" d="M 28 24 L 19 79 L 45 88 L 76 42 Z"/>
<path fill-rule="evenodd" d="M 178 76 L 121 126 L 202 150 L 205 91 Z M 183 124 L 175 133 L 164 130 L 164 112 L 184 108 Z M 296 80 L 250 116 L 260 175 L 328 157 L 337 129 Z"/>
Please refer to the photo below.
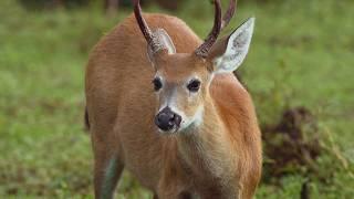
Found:
<path fill-rule="evenodd" d="M 140 7 L 140 1 L 139 0 L 133 0 L 134 3 L 134 14 L 135 19 L 140 28 L 142 33 L 144 34 L 147 43 L 149 45 L 153 45 L 153 33 L 152 30 L 148 28 L 145 19 L 142 15 L 142 7 Z"/>

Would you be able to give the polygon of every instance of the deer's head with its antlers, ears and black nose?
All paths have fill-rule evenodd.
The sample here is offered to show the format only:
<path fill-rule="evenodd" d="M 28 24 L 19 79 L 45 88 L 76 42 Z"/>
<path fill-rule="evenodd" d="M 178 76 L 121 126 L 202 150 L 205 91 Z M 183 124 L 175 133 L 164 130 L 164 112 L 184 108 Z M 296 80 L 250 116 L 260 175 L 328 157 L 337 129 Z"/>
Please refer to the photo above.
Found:
<path fill-rule="evenodd" d="M 150 30 L 142 17 L 139 0 L 135 0 L 135 17 L 147 41 L 147 54 L 156 73 L 153 86 L 157 95 L 155 124 L 166 133 L 183 132 L 204 121 L 205 98 L 217 73 L 232 73 L 248 53 L 254 19 L 250 18 L 230 35 L 218 39 L 229 23 L 236 0 L 230 0 L 221 15 L 220 0 L 215 3 L 215 23 L 205 42 L 194 53 L 178 53 L 163 29 Z"/>

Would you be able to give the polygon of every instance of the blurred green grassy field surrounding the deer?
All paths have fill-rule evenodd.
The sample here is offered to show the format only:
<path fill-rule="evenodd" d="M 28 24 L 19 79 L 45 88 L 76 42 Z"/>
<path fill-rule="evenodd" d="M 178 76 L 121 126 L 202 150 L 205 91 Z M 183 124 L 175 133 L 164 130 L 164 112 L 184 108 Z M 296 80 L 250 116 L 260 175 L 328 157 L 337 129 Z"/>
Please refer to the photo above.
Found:
<path fill-rule="evenodd" d="M 241 75 L 261 125 L 275 123 L 284 107 L 308 107 L 329 148 L 315 160 L 319 174 L 264 179 L 257 198 L 299 198 L 306 180 L 311 198 L 353 198 L 354 1 L 242 2 L 230 27 L 257 18 Z M 0 198 L 93 198 L 84 66 L 91 48 L 129 12 L 27 11 L 1 0 Z M 199 35 L 212 23 L 208 3 L 187 3 L 173 14 Z M 118 198 L 150 193 L 124 174 Z"/>

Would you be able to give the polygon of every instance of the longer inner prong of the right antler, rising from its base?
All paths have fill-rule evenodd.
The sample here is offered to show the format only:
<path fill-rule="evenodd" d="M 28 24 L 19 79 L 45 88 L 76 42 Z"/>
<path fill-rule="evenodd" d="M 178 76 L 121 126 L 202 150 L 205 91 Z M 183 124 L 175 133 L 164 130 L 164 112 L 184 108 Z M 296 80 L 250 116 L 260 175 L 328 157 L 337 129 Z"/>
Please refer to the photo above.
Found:
<path fill-rule="evenodd" d="M 212 44 L 217 41 L 218 35 L 221 31 L 221 3 L 220 0 L 214 0 L 215 4 L 215 19 L 214 27 L 210 33 L 208 34 L 205 42 L 196 50 L 196 55 L 206 57 Z"/>

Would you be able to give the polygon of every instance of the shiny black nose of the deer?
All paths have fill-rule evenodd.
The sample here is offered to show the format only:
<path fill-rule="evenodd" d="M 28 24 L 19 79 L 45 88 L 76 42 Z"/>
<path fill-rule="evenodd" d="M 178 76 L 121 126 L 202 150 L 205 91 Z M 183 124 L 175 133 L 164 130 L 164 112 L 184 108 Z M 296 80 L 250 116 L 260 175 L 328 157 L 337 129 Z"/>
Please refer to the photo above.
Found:
<path fill-rule="evenodd" d="M 178 114 L 174 113 L 168 106 L 162 109 L 155 116 L 156 126 L 164 132 L 178 128 L 180 125 L 180 122 L 181 122 L 181 117 Z"/>

